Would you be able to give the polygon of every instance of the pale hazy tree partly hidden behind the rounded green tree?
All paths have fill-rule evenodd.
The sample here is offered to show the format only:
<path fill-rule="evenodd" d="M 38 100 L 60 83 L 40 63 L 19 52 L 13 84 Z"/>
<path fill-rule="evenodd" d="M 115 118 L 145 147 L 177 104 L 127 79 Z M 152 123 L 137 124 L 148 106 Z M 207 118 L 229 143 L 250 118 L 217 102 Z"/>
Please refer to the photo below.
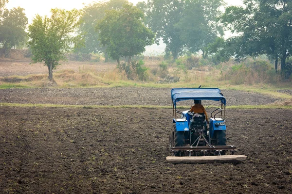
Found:
<path fill-rule="evenodd" d="M 76 52 L 81 53 L 105 53 L 106 46 L 103 46 L 98 40 L 98 33 L 95 32 L 95 26 L 99 20 L 105 16 L 106 10 L 119 10 L 126 0 L 110 0 L 108 2 L 94 2 L 83 8 L 83 14 L 80 17 L 80 27 L 78 32 L 84 40 L 84 47 L 76 49 Z M 108 60 L 105 53 L 106 62 Z"/>

